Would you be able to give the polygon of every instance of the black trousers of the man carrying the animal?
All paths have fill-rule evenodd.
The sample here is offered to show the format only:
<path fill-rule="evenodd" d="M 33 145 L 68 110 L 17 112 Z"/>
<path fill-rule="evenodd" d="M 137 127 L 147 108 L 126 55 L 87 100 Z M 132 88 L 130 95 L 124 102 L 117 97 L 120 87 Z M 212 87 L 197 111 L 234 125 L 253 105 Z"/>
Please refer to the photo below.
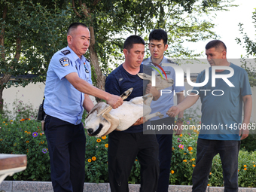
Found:
<path fill-rule="evenodd" d="M 159 161 L 156 136 L 114 131 L 108 136 L 111 192 L 129 192 L 128 178 L 136 157 L 141 165 L 140 192 L 157 191 Z"/>

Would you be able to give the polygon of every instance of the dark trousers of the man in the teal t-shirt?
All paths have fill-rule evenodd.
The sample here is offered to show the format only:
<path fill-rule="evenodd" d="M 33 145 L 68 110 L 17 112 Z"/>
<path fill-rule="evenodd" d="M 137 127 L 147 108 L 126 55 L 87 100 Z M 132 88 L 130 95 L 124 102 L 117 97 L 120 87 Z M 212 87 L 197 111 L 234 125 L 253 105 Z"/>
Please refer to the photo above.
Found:
<path fill-rule="evenodd" d="M 197 139 L 197 162 L 192 174 L 192 191 L 206 191 L 212 159 L 220 154 L 224 191 L 238 191 L 238 154 L 240 141 Z"/>

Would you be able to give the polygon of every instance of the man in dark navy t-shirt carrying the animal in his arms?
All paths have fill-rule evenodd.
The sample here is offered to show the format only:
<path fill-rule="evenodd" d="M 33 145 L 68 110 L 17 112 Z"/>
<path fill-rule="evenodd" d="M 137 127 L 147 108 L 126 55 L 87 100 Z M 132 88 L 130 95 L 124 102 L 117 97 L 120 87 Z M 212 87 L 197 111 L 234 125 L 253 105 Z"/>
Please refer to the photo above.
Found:
<path fill-rule="evenodd" d="M 143 95 L 143 81 L 137 74 L 142 72 L 145 41 L 137 35 L 131 35 L 123 44 L 123 53 L 125 61 L 108 75 L 105 90 L 120 96 L 133 87 L 133 92 L 126 99 L 129 101 Z M 140 191 L 157 190 L 158 143 L 155 135 L 143 134 L 142 123 L 143 117 L 129 129 L 122 132 L 113 131 L 108 135 L 108 176 L 112 192 L 129 192 L 128 178 L 136 157 L 141 165 Z"/>

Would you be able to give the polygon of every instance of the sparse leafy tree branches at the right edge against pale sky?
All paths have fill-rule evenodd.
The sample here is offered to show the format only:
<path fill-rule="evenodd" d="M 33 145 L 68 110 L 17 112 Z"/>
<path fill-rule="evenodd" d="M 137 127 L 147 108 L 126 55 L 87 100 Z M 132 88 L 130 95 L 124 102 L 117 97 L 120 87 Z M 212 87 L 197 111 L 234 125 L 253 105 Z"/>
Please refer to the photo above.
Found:
<path fill-rule="evenodd" d="M 256 11 L 252 13 L 252 19 L 255 27 L 256 32 Z M 239 31 L 242 35 L 241 38 L 236 38 L 236 42 L 242 47 L 245 47 L 246 55 L 241 56 L 242 57 L 242 68 L 245 69 L 245 71 L 248 73 L 249 81 L 251 84 L 251 87 L 256 86 L 256 42 L 251 40 L 251 38 L 248 37 L 247 33 L 244 32 L 243 24 L 239 23 Z M 248 59 L 248 57 L 252 56 L 253 59 Z"/>

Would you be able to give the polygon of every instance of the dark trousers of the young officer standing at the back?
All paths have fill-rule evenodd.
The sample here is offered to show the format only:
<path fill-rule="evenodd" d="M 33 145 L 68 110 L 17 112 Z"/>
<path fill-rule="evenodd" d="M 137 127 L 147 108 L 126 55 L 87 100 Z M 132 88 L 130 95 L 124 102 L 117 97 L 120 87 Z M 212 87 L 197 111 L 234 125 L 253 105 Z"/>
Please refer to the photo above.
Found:
<path fill-rule="evenodd" d="M 174 118 L 166 117 L 160 120 L 151 120 L 151 125 L 172 125 Z M 156 132 L 157 133 L 157 132 Z M 157 134 L 157 142 L 159 144 L 159 162 L 160 173 L 157 185 L 157 192 L 168 192 L 169 187 L 169 173 L 171 169 L 172 159 L 172 133 L 173 130 L 158 132 L 169 134 Z"/>

